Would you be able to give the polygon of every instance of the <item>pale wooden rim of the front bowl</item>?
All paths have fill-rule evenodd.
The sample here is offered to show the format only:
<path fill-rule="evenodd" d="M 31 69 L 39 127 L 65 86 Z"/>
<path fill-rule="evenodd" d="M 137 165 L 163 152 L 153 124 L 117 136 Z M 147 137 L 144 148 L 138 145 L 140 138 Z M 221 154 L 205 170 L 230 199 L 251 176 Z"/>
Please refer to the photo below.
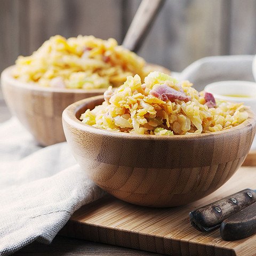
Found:
<path fill-rule="evenodd" d="M 62 113 L 62 124 L 65 121 L 67 124 L 75 127 L 75 129 L 90 132 L 93 134 L 98 135 L 108 135 L 110 137 L 116 138 L 125 138 L 125 139 L 141 139 L 141 140 L 148 140 L 148 139 L 157 139 L 157 140 L 181 140 L 181 139 L 195 139 L 195 138 L 206 138 L 212 137 L 213 135 L 222 135 L 229 133 L 230 131 L 242 130 L 247 126 L 256 125 L 256 115 L 250 109 L 246 109 L 249 117 L 242 123 L 237 126 L 231 127 L 230 129 L 217 131 L 217 132 L 209 132 L 209 133 L 195 133 L 195 134 L 185 134 L 185 135 L 166 135 L 166 136 L 159 136 L 159 135 L 150 135 L 150 134 L 131 134 L 125 132 L 117 132 L 117 131 L 110 131 L 100 129 L 85 123 L 82 123 L 76 118 L 76 113 L 79 109 L 81 109 L 84 105 L 90 102 L 103 100 L 103 95 L 98 95 L 94 97 L 90 97 L 87 99 L 79 100 L 74 102 L 73 104 L 69 105 Z"/>

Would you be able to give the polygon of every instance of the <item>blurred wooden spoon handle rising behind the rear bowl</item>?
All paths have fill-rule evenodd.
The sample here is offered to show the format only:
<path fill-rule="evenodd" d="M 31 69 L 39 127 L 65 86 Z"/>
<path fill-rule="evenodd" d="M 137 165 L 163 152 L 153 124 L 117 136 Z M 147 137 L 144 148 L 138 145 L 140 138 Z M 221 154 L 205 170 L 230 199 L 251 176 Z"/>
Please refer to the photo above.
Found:
<path fill-rule="evenodd" d="M 142 0 L 125 35 L 123 46 L 138 51 L 165 0 Z"/>

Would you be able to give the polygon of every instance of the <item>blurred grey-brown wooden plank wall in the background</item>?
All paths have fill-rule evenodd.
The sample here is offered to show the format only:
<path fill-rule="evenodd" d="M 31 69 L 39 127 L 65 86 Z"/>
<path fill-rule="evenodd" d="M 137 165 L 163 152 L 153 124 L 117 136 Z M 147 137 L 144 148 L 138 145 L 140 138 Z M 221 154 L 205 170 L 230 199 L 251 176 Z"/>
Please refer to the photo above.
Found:
<path fill-rule="evenodd" d="M 140 2 L 0 0 L 0 71 L 55 34 L 92 34 L 122 43 Z M 255 52 L 256 1 L 166 0 L 139 54 L 181 71 L 205 56 Z"/>

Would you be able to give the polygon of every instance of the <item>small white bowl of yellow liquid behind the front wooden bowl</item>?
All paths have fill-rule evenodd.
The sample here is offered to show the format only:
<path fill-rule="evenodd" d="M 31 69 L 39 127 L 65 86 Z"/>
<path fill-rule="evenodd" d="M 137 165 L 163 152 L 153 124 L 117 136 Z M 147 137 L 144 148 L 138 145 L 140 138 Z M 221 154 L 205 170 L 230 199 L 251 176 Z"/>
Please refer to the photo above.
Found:
<path fill-rule="evenodd" d="M 216 99 L 243 102 L 245 106 L 249 106 L 254 114 L 256 114 L 255 82 L 220 81 L 206 85 L 204 90 L 212 93 Z M 236 97 L 234 95 L 236 95 Z M 239 95 L 241 95 L 241 97 L 237 97 Z M 254 139 L 251 148 L 256 149 L 256 139 Z"/>

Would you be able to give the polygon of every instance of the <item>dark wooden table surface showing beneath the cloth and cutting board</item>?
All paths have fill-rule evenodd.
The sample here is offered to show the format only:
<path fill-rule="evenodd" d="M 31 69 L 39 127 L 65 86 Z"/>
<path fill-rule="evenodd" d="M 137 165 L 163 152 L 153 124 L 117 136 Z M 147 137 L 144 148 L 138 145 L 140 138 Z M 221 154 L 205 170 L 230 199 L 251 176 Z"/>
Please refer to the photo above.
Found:
<path fill-rule="evenodd" d="M 7 109 L 4 101 L 1 99 L 0 92 L 0 123 L 10 118 L 10 112 Z M 89 241 L 57 236 L 53 239 L 50 245 L 34 242 L 17 253 L 15 256 L 43 256 L 43 255 L 124 255 L 124 256 L 139 256 L 139 255 L 161 255 L 157 253 L 149 253 L 144 251 L 127 249 L 124 247 L 93 243 Z"/>

